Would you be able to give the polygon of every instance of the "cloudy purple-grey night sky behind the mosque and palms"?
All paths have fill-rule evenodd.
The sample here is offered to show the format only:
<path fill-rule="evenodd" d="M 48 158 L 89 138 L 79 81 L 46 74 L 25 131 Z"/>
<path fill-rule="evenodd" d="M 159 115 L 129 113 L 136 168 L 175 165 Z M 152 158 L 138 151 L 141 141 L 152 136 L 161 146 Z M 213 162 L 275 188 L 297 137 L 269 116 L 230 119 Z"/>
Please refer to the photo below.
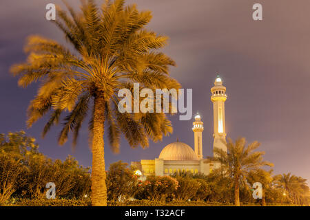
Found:
<path fill-rule="evenodd" d="M 76 8 L 79 1 L 69 1 Z M 102 2 L 102 1 L 99 1 Z M 61 1 L 0 1 L 0 133 L 25 130 L 37 139 L 39 151 L 53 159 L 73 155 L 91 166 L 87 124 L 72 151 L 68 142 L 58 146 L 61 126 L 45 139 L 41 131 L 47 118 L 26 129 L 26 109 L 38 84 L 17 86 L 9 73 L 14 63 L 25 61 L 27 36 L 40 34 L 66 45 L 63 34 L 45 19 L 45 5 Z M 210 90 L 216 74 L 227 87 L 225 120 L 227 137 L 258 140 L 264 158 L 278 173 L 310 179 L 310 8 L 309 0 L 130 0 L 139 10 L 151 10 L 147 29 L 169 36 L 163 52 L 176 61 L 170 74 L 184 89 L 193 89 L 193 113 L 204 122 L 203 155 L 212 155 L 213 108 Z M 262 4 L 262 21 L 252 19 L 252 6 Z M 192 120 L 170 117 L 174 133 L 149 148 L 130 148 L 122 138 L 121 153 L 114 155 L 105 136 L 105 164 L 130 163 L 158 157 L 163 147 L 178 138 L 194 147 Z M 310 183 L 310 181 L 308 181 Z"/>

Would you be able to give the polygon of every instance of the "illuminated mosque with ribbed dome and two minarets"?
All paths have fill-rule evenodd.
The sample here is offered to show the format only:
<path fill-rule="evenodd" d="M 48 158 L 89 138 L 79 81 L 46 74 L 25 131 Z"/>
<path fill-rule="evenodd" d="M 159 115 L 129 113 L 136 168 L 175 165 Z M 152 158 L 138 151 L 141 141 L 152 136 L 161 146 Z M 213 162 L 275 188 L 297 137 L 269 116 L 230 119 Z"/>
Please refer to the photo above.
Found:
<path fill-rule="evenodd" d="M 213 102 L 214 113 L 213 147 L 220 148 L 225 152 L 227 152 L 224 144 L 226 140 L 226 99 L 226 87 L 223 86 L 223 80 L 220 76 L 217 76 L 214 87 L 211 88 L 211 102 Z M 132 162 L 131 164 L 138 168 L 136 173 L 141 175 L 141 179 L 145 179 L 147 175 L 172 175 L 182 171 L 208 175 L 211 170 L 218 168 L 220 164 L 209 162 L 209 159 L 203 158 L 203 121 L 198 114 L 195 116 L 192 131 L 194 132 L 194 150 L 191 146 L 177 140 L 165 146 L 158 158 Z"/>

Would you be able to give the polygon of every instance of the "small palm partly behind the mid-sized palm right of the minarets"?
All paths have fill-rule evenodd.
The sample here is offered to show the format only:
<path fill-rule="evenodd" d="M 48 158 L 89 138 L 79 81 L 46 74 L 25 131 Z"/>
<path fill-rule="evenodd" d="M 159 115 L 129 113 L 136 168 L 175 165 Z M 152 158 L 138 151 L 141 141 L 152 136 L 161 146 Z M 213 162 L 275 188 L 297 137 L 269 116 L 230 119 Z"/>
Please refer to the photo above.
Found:
<path fill-rule="evenodd" d="M 256 169 L 250 170 L 247 174 L 247 182 L 253 185 L 255 182 L 260 182 L 262 184 L 262 206 L 266 206 L 266 194 L 265 191 L 269 188 L 273 178 L 271 176 L 273 170 L 263 170 Z"/>

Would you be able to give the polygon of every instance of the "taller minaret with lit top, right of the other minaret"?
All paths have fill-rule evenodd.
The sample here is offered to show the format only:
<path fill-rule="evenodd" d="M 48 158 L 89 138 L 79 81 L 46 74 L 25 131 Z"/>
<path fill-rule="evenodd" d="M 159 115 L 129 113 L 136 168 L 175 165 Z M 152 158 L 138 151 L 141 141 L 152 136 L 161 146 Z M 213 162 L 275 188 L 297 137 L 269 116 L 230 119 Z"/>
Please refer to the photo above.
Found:
<path fill-rule="evenodd" d="M 227 147 L 223 142 L 226 142 L 225 131 L 225 101 L 226 87 L 223 86 L 223 81 L 220 76 L 216 76 L 214 87 L 211 88 L 211 101 L 213 102 L 214 113 L 214 144 L 213 148 L 220 148 L 227 152 Z M 216 155 L 214 155 L 215 157 Z"/>

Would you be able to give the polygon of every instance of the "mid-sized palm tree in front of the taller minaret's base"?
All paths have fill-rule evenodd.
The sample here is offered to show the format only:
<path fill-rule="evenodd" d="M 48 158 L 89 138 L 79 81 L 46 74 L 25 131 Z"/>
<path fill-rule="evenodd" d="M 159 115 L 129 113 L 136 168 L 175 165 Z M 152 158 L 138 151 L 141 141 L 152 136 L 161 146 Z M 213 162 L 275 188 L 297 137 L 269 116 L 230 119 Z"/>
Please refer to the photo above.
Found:
<path fill-rule="evenodd" d="M 273 164 L 263 160 L 262 155 L 265 152 L 253 152 L 260 146 L 257 141 L 245 146 L 245 137 L 238 138 L 235 143 L 228 138 L 228 142 L 225 144 L 227 153 L 220 148 L 214 148 L 214 153 L 218 156 L 211 159 L 214 162 L 220 162 L 227 175 L 234 179 L 234 203 L 235 206 L 240 206 L 240 181 L 247 177 L 249 171 L 262 166 L 273 166 Z"/>

